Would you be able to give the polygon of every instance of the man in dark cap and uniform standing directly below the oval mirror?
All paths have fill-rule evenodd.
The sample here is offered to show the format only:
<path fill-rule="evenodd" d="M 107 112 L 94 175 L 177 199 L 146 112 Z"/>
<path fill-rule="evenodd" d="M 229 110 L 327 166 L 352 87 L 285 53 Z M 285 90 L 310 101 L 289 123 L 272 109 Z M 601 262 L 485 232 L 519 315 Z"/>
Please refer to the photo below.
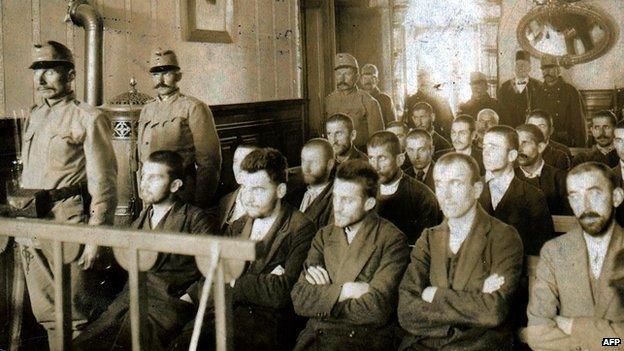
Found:
<path fill-rule="evenodd" d="M 546 56 L 541 62 L 544 92 L 537 99 L 537 107 L 546 110 L 553 118 L 552 140 L 569 147 L 585 147 L 585 112 L 581 94 L 560 76 L 557 59 Z"/>

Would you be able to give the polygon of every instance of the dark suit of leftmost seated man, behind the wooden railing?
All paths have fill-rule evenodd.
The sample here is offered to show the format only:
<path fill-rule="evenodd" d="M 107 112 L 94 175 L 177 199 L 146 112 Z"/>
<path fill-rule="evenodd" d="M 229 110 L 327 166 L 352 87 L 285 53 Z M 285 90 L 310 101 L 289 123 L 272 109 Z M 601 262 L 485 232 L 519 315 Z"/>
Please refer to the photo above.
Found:
<path fill-rule="evenodd" d="M 144 209 L 132 228 L 143 226 L 149 208 Z M 159 228 L 155 231 L 181 232 L 188 234 L 213 233 L 217 221 L 200 208 L 176 202 Z M 143 332 L 149 333 L 151 343 L 148 350 L 165 350 L 171 335 L 193 319 L 196 308 L 180 300 L 186 289 L 201 277 L 195 265 L 195 258 L 184 255 L 160 253 L 154 267 L 146 274 L 147 280 L 147 323 Z M 117 296 L 109 308 L 74 339 L 75 350 L 131 349 L 129 288 Z"/>

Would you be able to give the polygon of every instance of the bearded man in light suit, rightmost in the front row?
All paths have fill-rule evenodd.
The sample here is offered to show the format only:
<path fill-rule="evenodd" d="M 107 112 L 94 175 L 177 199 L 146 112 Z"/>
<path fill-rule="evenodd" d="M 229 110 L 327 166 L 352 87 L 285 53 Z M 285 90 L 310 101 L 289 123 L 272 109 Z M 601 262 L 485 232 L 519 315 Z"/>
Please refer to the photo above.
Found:
<path fill-rule="evenodd" d="M 624 305 L 610 286 L 624 249 L 614 221 L 624 193 L 598 162 L 570 170 L 566 187 L 579 226 L 542 248 L 525 335 L 535 350 L 602 350 L 603 338 L 624 338 Z"/>

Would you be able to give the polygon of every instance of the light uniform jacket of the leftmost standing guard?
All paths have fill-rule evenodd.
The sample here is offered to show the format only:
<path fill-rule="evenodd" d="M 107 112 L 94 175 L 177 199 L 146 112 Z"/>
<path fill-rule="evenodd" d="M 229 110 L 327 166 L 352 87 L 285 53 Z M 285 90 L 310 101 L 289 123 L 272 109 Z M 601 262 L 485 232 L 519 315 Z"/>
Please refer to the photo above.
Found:
<path fill-rule="evenodd" d="M 110 121 L 104 112 L 73 94 L 44 100 L 26 120 L 22 147 L 22 187 L 58 189 L 87 181 L 89 224 L 112 224 L 117 201 L 117 160 Z M 52 217 L 72 220 L 84 213 L 82 199 L 59 201 Z"/>

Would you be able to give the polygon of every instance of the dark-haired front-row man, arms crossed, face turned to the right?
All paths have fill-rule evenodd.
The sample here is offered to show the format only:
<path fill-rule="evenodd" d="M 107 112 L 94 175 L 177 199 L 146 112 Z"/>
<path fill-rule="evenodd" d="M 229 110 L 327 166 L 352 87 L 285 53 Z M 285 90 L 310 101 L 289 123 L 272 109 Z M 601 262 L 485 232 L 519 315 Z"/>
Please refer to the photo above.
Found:
<path fill-rule="evenodd" d="M 375 211 L 378 176 L 365 161 L 338 167 L 334 224 L 318 231 L 292 290 L 309 318 L 294 350 L 388 350 L 397 289 L 409 260 L 405 235 Z"/>

